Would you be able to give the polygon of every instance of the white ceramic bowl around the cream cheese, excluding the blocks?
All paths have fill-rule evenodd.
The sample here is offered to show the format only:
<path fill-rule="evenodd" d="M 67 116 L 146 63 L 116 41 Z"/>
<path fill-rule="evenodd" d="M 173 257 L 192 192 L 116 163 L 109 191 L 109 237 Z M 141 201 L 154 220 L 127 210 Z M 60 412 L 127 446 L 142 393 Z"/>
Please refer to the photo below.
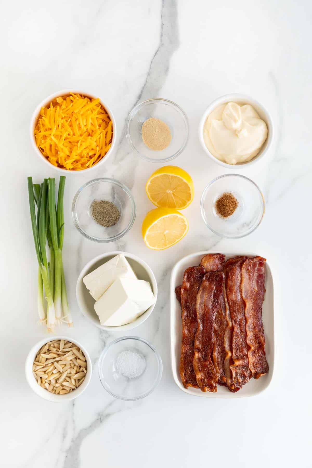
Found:
<path fill-rule="evenodd" d="M 155 296 L 155 302 L 142 315 L 140 315 L 134 322 L 127 323 L 126 325 L 121 325 L 120 327 L 108 327 L 105 325 L 101 325 L 100 319 L 94 310 L 95 300 L 93 299 L 93 297 L 87 290 L 84 282 L 82 281 L 82 278 L 84 278 L 88 273 L 91 273 L 91 271 L 94 271 L 103 263 L 108 262 L 111 258 L 119 254 L 123 254 L 126 257 L 133 271 L 137 275 L 138 279 L 143 279 L 150 283 L 152 287 L 152 292 L 154 293 L 154 296 Z M 90 322 L 92 322 L 96 327 L 102 330 L 108 330 L 108 331 L 131 330 L 133 328 L 138 327 L 138 325 L 141 325 L 141 323 L 145 322 L 145 320 L 152 314 L 152 310 L 155 307 L 156 300 L 157 300 L 157 282 L 156 282 L 156 278 L 152 270 L 147 265 L 147 263 L 143 262 L 143 260 L 141 260 L 136 255 L 129 254 L 127 252 L 120 252 L 117 250 L 115 252 L 109 252 L 107 254 L 99 255 L 95 257 L 93 260 L 91 260 L 89 263 L 87 263 L 87 265 L 85 265 L 85 267 L 82 269 L 79 275 L 79 278 L 77 280 L 76 298 L 77 298 L 77 302 L 78 302 L 78 305 L 82 314 L 88 320 L 90 320 Z"/>

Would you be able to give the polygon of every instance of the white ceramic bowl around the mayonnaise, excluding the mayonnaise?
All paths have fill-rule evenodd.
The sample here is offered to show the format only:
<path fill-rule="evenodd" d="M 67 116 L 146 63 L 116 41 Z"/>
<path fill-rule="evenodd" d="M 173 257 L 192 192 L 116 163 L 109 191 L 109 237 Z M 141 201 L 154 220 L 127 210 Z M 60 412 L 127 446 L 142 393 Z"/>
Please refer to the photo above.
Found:
<path fill-rule="evenodd" d="M 259 114 L 262 120 L 265 121 L 268 127 L 268 138 L 265 140 L 264 144 L 261 146 L 261 149 L 259 153 L 252 159 L 251 161 L 247 162 L 242 162 L 239 164 L 227 164 L 226 162 L 219 161 L 213 154 L 210 153 L 209 149 L 205 145 L 204 139 L 203 139 L 203 126 L 206 122 L 207 117 L 211 114 L 213 110 L 215 110 L 218 106 L 221 106 L 222 104 L 226 104 L 227 102 L 237 102 L 239 104 L 250 104 L 254 107 L 256 112 Z M 263 159 L 267 154 L 272 146 L 272 141 L 274 138 L 274 125 L 273 125 L 273 120 L 268 112 L 268 110 L 258 101 L 253 99 L 250 96 L 247 96 L 245 94 L 226 94 L 224 96 L 219 97 L 215 101 L 211 102 L 211 104 L 207 107 L 205 110 L 203 117 L 200 120 L 199 123 L 199 141 L 201 142 L 203 146 L 203 150 L 212 161 L 215 161 L 219 166 L 223 166 L 224 168 L 228 169 L 243 169 L 246 168 L 247 166 L 250 167 L 251 165 L 255 164 L 256 162 L 259 162 L 261 159 Z"/>

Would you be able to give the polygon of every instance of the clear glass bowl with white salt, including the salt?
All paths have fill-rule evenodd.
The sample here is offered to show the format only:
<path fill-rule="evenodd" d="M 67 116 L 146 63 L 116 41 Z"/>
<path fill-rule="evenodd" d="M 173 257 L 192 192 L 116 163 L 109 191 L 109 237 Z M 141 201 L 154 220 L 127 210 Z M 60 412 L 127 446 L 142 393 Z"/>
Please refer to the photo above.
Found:
<path fill-rule="evenodd" d="M 162 361 L 151 343 L 138 336 L 112 341 L 99 359 L 99 377 L 105 390 L 120 400 L 140 400 L 160 382 Z"/>

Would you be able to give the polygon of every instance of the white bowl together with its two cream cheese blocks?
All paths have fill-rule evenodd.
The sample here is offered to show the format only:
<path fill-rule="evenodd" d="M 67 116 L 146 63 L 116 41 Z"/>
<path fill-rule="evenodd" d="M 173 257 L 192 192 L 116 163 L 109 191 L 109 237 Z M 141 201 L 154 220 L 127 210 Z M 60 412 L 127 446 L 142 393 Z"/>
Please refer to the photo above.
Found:
<path fill-rule="evenodd" d="M 118 261 L 118 257 L 123 259 Z M 115 261 L 112 261 L 113 259 Z M 119 285 L 120 281 L 128 283 L 128 293 L 129 287 L 133 288 L 130 300 L 125 297 L 125 290 Z M 138 289 L 135 285 L 129 285 L 131 281 L 144 283 L 145 290 L 149 283 L 150 293 Z M 105 293 L 102 294 L 104 290 Z M 150 299 L 151 294 L 154 296 L 153 300 Z M 157 282 L 151 268 L 141 258 L 128 252 L 113 251 L 99 255 L 85 265 L 77 280 L 76 298 L 82 314 L 96 327 L 107 331 L 125 331 L 138 327 L 152 314 L 157 300 Z M 138 313 L 135 313 L 132 302 L 135 302 Z M 137 310 L 138 307 L 141 309 Z M 120 314 L 123 318 L 129 316 L 129 322 L 121 320 L 112 325 L 111 320 L 103 319 L 105 308 L 108 309 L 108 315 L 116 312 L 115 319 L 117 316 L 120 318 Z"/>

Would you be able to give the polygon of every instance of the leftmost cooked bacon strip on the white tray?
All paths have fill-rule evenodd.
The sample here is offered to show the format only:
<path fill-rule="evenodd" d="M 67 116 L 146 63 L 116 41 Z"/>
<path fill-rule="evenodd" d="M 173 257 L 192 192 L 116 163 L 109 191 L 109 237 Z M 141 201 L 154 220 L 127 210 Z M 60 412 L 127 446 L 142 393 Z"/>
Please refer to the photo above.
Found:
<path fill-rule="evenodd" d="M 205 269 L 192 266 L 184 271 L 181 285 L 182 341 L 180 356 L 180 375 L 185 388 L 198 388 L 193 369 L 194 338 L 197 327 L 196 296 L 202 283 Z"/>

